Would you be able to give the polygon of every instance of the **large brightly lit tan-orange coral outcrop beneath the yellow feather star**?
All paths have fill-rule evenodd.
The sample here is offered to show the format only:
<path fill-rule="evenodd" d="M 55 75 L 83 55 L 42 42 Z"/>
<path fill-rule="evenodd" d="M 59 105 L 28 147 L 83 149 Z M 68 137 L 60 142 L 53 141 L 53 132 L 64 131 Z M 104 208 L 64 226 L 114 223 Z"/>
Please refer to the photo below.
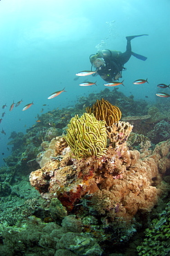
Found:
<path fill-rule="evenodd" d="M 100 158 L 76 159 L 70 154 L 70 147 L 65 147 L 44 167 L 30 174 L 31 185 L 42 196 L 62 203 L 63 208 L 57 203 L 59 213 L 55 219 L 61 218 L 61 211 L 81 218 L 97 217 L 102 223 L 98 232 L 94 233 L 91 225 L 87 228 L 97 241 L 107 239 L 117 244 L 133 235 L 135 228 L 131 224 L 135 223 L 135 215 L 150 212 L 164 190 L 162 174 L 169 168 L 169 140 L 160 143 L 153 152 L 148 151 L 150 144 L 145 140 L 140 154 L 126 146 L 131 129 L 128 122 L 108 127 L 108 148 Z"/>

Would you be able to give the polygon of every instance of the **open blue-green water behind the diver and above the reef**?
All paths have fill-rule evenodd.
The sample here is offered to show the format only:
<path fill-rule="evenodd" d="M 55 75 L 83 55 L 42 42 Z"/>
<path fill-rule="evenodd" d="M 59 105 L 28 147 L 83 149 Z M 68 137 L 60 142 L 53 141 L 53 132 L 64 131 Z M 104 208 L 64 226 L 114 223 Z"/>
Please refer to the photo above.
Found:
<path fill-rule="evenodd" d="M 126 35 L 149 34 L 131 42 L 132 50 L 148 60 L 131 57 L 123 72 L 125 86 L 119 90 L 125 95 L 133 93 L 135 100 L 158 100 L 156 84 L 169 84 L 169 10 L 169 0 L 1 0 L 0 116 L 4 111 L 6 114 L 0 131 L 3 128 L 6 136 L 0 134 L 0 165 L 10 154 L 10 133 L 25 132 L 34 125 L 42 108 L 46 113 L 70 106 L 84 93 L 104 89 L 100 76 L 91 78 L 97 80 L 97 86 L 84 88 L 79 86 L 84 79 L 75 81 L 75 73 L 91 69 L 88 57 L 98 49 L 124 52 Z M 132 84 L 140 78 L 148 78 L 149 84 Z M 66 93 L 47 100 L 64 87 Z M 17 103 L 21 99 L 21 105 L 9 111 L 13 100 Z M 32 101 L 30 109 L 21 111 Z M 3 104 L 8 107 L 2 109 Z"/>

